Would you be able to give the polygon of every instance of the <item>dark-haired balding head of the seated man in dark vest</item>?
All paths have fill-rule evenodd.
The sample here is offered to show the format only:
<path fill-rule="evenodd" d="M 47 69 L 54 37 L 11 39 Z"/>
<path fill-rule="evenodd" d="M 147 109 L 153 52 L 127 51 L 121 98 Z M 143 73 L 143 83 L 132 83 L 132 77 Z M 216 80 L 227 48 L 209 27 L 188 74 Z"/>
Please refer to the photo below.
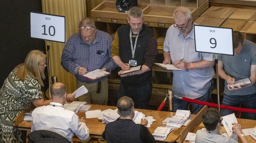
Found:
<path fill-rule="evenodd" d="M 117 109 L 121 117 L 132 115 L 134 109 L 132 98 L 127 96 L 121 97 L 117 102 Z"/>

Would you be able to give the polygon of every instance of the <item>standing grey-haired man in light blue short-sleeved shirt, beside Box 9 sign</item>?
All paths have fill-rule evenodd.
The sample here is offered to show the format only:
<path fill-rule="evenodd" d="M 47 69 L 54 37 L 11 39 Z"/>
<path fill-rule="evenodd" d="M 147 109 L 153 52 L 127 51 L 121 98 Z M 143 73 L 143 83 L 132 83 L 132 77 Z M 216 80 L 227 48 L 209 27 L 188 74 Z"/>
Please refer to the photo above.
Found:
<path fill-rule="evenodd" d="M 213 55 L 195 52 L 193 18 L 186 7 L 178 7 L 174 13 L 175 24 L 170 26 L 164 41 L 163 64 L 174 64 L 175 67 L 188 70 L 173 71 L 172 89 L 181 97 L 209 102 L 211 98 L 211 79 L 214 76 Z M 180 61 L 184 59 L 184 61 Z M 186 110 L 188 102 L 173 99 L 173 111 Z M 200 111 L 203 105 L 192 105 L 192 114 Z"/>

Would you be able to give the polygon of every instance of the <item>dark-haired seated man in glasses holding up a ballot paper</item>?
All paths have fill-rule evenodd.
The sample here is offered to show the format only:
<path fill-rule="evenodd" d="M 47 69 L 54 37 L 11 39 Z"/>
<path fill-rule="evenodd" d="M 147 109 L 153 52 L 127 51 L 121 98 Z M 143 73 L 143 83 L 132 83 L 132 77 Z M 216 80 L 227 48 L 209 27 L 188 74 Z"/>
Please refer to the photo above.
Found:
<path fill-rule="evenodd" d="M 220 111 L 216 108 L 209 108 L 202 116 L 202 121 L 206 131 L 197 130 L 196 143 L 237 143 L 231 137 L 220 134 L 222 118 L 220 118 Z M 233 125 L 232 130 L 240 137 L 242 143 L 249 143 L 241 130 L 241 125 L 237 123 L 233 123 Z"/>

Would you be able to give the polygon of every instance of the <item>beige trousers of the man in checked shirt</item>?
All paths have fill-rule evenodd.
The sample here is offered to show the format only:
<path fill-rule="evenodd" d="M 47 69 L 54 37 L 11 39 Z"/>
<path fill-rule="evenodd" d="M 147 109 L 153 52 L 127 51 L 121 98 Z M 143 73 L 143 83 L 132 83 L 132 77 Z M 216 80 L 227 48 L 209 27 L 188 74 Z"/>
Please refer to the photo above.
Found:
<path fill-rule="evenodd" d="M 85 83 L 77 80 L 77 88 L 80 88 L 82 85 L 86 87 L 88 93 L 83 94 L 78 97 L 79 101 L 87 102 L 88 104 L 97 104 L 97 105 L 107 105 L 108 104 L 108 78 L 101 80 L 101 90 L 100 93 L 97 93 L 98 82 L 94 83 Z"/>

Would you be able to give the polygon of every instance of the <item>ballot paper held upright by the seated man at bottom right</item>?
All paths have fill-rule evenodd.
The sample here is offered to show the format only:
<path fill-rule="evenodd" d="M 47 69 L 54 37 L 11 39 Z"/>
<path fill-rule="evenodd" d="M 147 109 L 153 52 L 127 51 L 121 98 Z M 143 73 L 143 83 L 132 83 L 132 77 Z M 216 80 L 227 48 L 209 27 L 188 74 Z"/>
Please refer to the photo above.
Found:
<path fill-rule="evenodd" d="M 232 124 L 237 123 L 237 118 L 236 118 L 235 114 L 232 113 L 230 115 L 223 116 L 221 118 L 223 119 L 222 124 L 223 124 L 225 130 L 227 131 L 228 136 L 231 136 L 233 133 L 233 130 L 232 130 L 233 125 Z"/>

